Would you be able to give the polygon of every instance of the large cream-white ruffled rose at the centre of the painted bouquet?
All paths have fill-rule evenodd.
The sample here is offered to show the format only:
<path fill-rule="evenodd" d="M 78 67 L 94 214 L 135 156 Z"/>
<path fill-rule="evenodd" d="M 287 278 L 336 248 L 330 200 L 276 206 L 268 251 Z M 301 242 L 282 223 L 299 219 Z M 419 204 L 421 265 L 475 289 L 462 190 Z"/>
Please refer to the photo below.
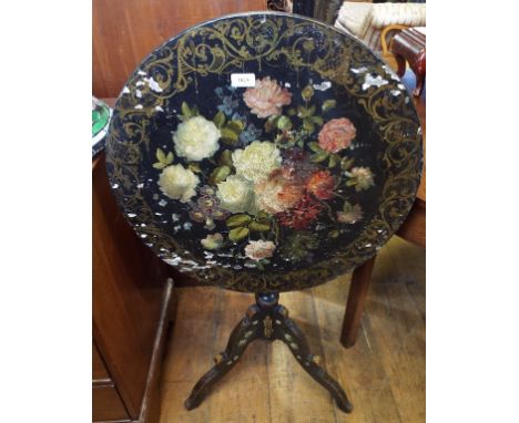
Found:
<path fill-rule="evenodd" d="M 273 143 L 261 141 L 253 142 L 245 149 L 234 151 L 232 158 L 236 175 L 253 183 L 266 179 L 282 163 L 279 149 Z"/>

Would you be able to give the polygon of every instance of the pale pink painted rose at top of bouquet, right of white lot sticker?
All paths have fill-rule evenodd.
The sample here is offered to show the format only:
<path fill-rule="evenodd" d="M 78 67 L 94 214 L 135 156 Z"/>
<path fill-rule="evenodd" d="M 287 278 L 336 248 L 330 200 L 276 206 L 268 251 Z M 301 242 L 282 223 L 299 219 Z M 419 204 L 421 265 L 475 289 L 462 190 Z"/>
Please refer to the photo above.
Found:
<path fill-rule="evenodd" d="M 279 114 L 284 105 L 291 104 L 292 94 L 277 85 L 276 80 L 265 76 L 256 81 L 256 86 L 245 91 L 243 100 L 257 117 L 268 117 Z"/>

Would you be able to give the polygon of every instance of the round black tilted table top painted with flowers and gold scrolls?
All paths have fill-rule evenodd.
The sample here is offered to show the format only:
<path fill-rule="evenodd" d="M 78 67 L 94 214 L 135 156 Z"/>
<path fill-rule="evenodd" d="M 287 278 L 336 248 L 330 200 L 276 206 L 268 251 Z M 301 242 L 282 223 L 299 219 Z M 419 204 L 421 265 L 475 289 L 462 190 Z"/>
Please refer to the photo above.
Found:
<path fill-rule="evenodd" d="M 419 121 L 363 43 L 273 12 L 205 22 L 130 76 L 106 141 L 125 217 L 208 285 L 285 291 L 376 254 L 421 171 Z"/>

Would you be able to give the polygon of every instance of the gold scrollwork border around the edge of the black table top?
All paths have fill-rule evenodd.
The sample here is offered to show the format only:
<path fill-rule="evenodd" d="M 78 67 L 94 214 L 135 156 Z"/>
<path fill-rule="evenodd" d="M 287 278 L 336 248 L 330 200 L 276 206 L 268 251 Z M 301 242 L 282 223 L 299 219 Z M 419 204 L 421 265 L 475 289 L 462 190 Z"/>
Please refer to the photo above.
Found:
<path fill-rule="evenodd" d="M 315 49 L 316 43 L 319 49 Z M 142 183 L 140 158 L 149 153 L 150 118 L 155 107 L 189 86 L 196 86 L 200 78 L 240 71 L 247 61 L 266 65 L 279 60 L 296 71 L 309 68 L 323 79 L 342 85 L 372 116 L 387 144 L 381 158 L 387 174 L 383 199 L 353 243 L 308 269 L 258 272 L 197 266 L 196 258 L 153 224 L 153 210 L 138 188 Z M 381 75 L 388 83 L 366 90 L 359 76 L 362 69 L 364 74 Z M 135 83 L 142 72 L 154 75 L 165 89 L 138 95 Z M 111 185 L 116 187 L 114 194 L 120 207 L 134 216 L 131 224 L 145 243 L 162 258 L 177 257 L 181 262 L 195 264 L 191 275 L 207 285 L 265 292 L 323 283 L 374 256 L 401 225 L 415 200 L 421 173 L 421 132 L 408 96 L 390 95 L 398 83 L 393 71 L 362 42 L 308 18 L 256 12 L 202 23 L 155 49 L 130 76 L 126 84 L 130 92 L 122 93 L 116 102 L 106 141 Z M 135 109 L 136 104 L 141 107 Z"/>

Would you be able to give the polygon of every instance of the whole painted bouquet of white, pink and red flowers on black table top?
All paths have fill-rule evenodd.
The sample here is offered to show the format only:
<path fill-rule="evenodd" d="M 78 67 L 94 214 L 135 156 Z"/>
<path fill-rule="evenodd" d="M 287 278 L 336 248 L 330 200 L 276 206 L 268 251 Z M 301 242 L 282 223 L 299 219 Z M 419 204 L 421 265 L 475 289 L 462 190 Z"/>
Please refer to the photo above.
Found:
<path fill-rule="evenodd" d="M 218 87 L 215 115 L 183 103 L 170 145 L 153 152 L 161 204 L 181 203 L 171 225 L 195 234 L 207 264 L 311 262 L 367 217 L 376 175 L 356 163 L 355 116 L 314 86 L 327 85 Z"/>

